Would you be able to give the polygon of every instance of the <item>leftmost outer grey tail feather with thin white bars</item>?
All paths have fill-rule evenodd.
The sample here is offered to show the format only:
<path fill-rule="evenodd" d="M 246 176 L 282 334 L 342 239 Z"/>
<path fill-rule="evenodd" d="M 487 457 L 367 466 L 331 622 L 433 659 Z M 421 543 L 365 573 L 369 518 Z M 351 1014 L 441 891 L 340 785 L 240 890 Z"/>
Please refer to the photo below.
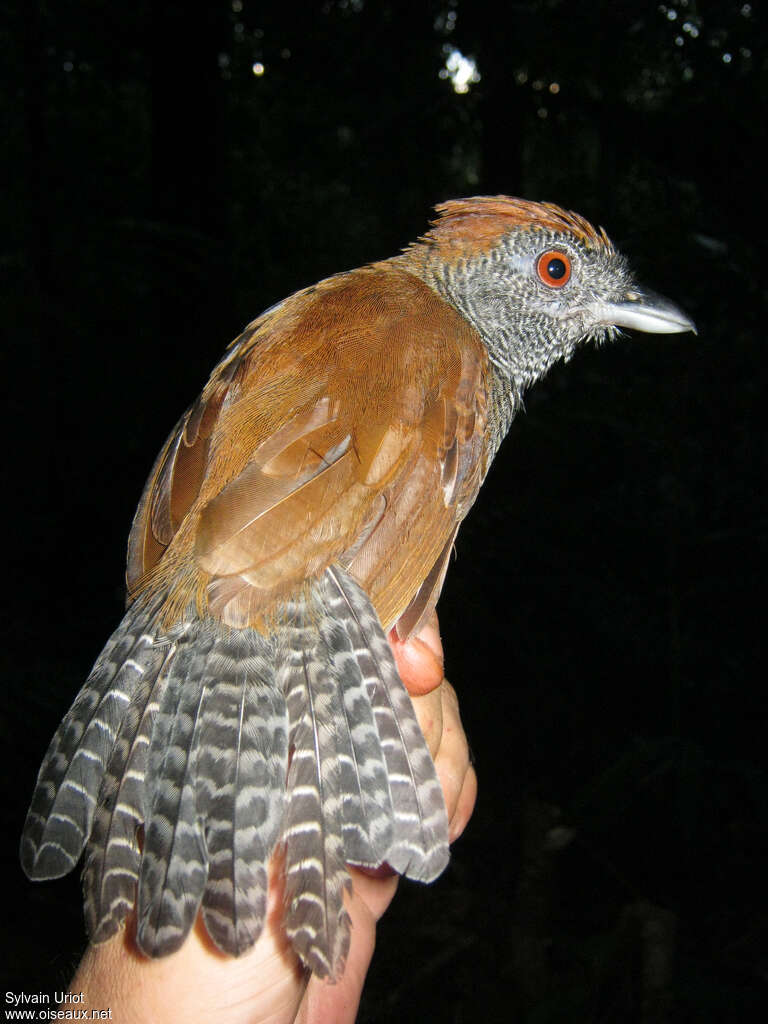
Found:
<path fill-rule="evenodd" d="M 59 878 L 80 859 L 126 708 L 163 660 L 148 635 L 157 607 L 128 611 L 51 740 L 22 835 L 31 879 Z"/>

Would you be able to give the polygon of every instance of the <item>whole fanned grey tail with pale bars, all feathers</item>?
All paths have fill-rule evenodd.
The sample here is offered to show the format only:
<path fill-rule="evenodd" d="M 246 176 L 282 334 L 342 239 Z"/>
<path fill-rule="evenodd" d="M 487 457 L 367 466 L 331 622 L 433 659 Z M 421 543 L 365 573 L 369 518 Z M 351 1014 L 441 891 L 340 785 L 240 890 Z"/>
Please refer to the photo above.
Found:
<path fill-rule="evenodd" d="M 87 844 L 94 942 L 135 906 L 139 947 L 162 956 L 202 908 L 238 955 L 263 929 L 282 840 L 287 933 L 317 975 L 338 977 L 346 864 L 427 882 L 449 856 L 442 792 L 376 612 L 338 567 L 270 636 L 193 612 L 163 634 L 162 603 L 128 610 L 56 731 L 23 866 L 57 878 Z"/>

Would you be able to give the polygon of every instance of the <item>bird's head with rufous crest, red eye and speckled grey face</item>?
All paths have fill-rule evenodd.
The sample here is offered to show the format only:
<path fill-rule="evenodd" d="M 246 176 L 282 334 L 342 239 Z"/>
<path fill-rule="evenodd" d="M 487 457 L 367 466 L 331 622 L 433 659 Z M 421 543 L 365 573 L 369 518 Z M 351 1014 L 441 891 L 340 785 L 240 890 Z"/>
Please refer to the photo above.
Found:
<path fill-rule="evenodd" d="M 407 258 L 475 327 L 518 400 L 585 341 L 622 327 L 695 330 L 638 286 L 605 232 L 578 214 L 506 196 L 452 200 L 437 214 Z"/>

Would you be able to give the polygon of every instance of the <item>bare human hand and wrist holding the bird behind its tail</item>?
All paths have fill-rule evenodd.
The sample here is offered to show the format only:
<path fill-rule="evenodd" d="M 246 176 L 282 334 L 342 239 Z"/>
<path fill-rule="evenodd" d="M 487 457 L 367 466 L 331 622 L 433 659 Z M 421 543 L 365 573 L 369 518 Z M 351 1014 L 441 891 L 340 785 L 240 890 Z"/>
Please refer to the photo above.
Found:
<path fill-rule="evenodd" d="M 477 777 L 459 717 L 459 702 L 442 673 L 437 616 L 407 643 L 390 635 L 397 668 L 414 698 L 442 785 L 451 841 L 464 830 L 474 808 Z M 273 865 L 276 858 L 273 860 Z M 270 872 L 267 923 L 249 952 L 233 959 L 215 948 L 198 921 L 171 956 L 151 961 L 138 952 L 133 927 L 101 946 L 90 946 L 70 990 L 84 993 L 78 1010 L 112 1010 L 121 1024 L 352 1024 L 376 943 L 376 924 L 397 889 L 386 869 L 351 869 L 345 904 L 352 922 L 344 974 L 335 984 L 308 977 L 281 927 L 280 871 Z"/>

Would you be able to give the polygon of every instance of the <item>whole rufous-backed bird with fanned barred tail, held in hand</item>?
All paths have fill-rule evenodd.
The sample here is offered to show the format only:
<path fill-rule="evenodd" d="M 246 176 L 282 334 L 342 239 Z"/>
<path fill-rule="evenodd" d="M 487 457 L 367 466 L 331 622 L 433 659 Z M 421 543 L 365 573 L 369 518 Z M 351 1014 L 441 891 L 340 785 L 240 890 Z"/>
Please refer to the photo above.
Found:
<path fill-rule="evenodd" d="M 551 203 L 449 200 L 398 255 L 271 306 L 162 449 L 127 610 L 44 758 L 30 879 L 83 853 L 94 943 L 135 913 L 163 956 L 198 914 L 240 955 L 283 927 L 341 976 L 347 864 L 449 860 L 440 785 L 388 636 L 433 612 L 524 392 L 622 328 L 695 331 L 602 228 Z"/>

